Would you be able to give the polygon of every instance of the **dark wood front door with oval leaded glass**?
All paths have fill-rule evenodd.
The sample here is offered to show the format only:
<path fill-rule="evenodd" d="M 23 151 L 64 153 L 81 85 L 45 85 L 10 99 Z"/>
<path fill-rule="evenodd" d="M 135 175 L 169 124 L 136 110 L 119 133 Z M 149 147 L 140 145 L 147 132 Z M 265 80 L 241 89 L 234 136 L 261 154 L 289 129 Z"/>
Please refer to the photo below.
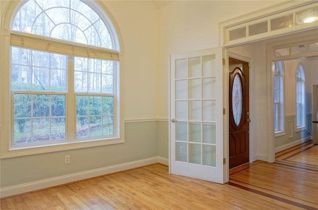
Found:
<path fill-rule="evenodd" d="M 229 165 L 230 168 L 249 162 L 248 62 L 229 57 Z"/>

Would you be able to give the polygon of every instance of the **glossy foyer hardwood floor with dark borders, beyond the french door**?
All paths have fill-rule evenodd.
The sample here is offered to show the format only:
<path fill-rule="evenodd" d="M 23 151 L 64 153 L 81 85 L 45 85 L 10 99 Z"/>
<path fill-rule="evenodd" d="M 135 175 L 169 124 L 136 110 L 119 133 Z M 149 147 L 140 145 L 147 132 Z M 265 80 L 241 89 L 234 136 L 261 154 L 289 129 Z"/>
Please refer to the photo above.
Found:
<path fill-rule="evenodd" d="M 230 170 L 229 184 L 268 198 L 318 210 L 318 146 L 312 141 Z"/>

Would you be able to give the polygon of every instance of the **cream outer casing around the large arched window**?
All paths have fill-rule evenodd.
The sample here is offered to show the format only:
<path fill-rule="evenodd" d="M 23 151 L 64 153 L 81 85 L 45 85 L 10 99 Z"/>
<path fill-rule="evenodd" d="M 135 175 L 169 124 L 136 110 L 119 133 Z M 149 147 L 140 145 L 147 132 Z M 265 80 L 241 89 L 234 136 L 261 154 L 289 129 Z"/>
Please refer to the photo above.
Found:
<path fill-rule="evenodd" d="M 110 19 L 110 17 L 107 15 L 109 13 L 107 10 L 102 8 L 98 3 L 95 1 L 85 0 L 85 3 L 89 5 L 99 16 L 103 19 L 103 21 L 108 26 L 108 30 L 110 33 L 110 36 L 113 41 L 113 50 L 109 50 L 108 53 L 110 57 L 117 56 L 118 68 L 114 72 L 115 79 L 114 79 L 114 90 L 116 95 L 116 100 L 114 100 L 114 127 L 116 126 L 117 132 L 114 133 L 114 136 L 110 139 L 89 139 L 81 141 L 75 141 L 74 139 L 67 142 L 60 142 L 57 144 L 47 144 L 47 145 L 35 145 L 35 146 L 29 146 L 29 147 L 19 147 L 14 148 L 11 146 L 11 123 L 8 123 L 12 121 L 11 116 L 11 106 L 12 106 L 12 100 L 11 100 L 11 90 L 10 90 L 10 69 L 11 64 L 7 62 L 10 60 L 10 42 L 12 36 L 21 36 L 25 39 L 33 39 L 33 40 L 41 40 L 39 36 L 32 35 L 32 34 L 24 34 L 21 32 L 13 32 L 10 30 L 10 27 L 12 25 L 13 18 L 15 17 L 16 12 L 20 9 L 20 7 L 25 3 L 25 1 L 10 1 L 8 2 L 8 5 L 4 11 L 2 24 L 1 24 L 1 48 L 0 48 L 0 84 L 1 84 L 1 97 L 0 97 L 0 144 L 1 144 L 1 150 L 0 150 L 0 156 L 1 158 L 5 157 L 17 157 L 17 156 L 25 156 L 25 155 L 32 155 L 32 154 L 40 154 L 40 153 L 48 153 L 48 152 L 55 152 L 55 151 L 63 151 L 63 150 L 70 150 L 70 149 L 78 149 L 78 148 L 87 148 L 87 147 L 94 147 L 94 146 L 102 146 L 102 145 L 109 145 L 109 144 L 118 144 L 118 143 L 124 143 L 124 115 L 123 115 L 123 94 L 121 94 L 120 90 L 123 89 L 122 84 L 120 81 L 123 80 L 123 67 L 120 66 L 121 63 L 121 55 L 120 52 L 120 38 L 118 36 L 118 33 L 116 32 L 115 25 L 113 24 L 113 21 Z M 47 42 L 52 42 L 51 38 L 46 38 L 45 40 L 48 40 Z M 43 40 L 42 40 L 43 41 Z M 55 40 L 56 41 L 56 40 Z M 56 43 L 59 43 L 59 41 L 56 41 Z M 65 41 L 61 41 L 63 44 L 67 44 Z M 50 43 L 52 44 L 52 43 Z M 72 47 L 74 49 L 78 49 L 79 51 L 84 53 L 83 45 L 72 43 Z M 93 52 L 96 51 L 97 54 L 100 51 L 97 47 L 87 47 L 84 45 L 85 52 Z M 41 49 L 39 49 L 41 50 Z M 103 49 L 104 50 L 104 49 Z M 3 69 L 8 69 L 7 71 L 3 71 Z M 115 70 L 115 69 L 114 69 Z M 72 82 L 73 84 L 73 82 Z M 120 103 L 121 102 L 121 103 Z M 74 103 L 73 103 L 74 105 Z M 67 105 L 68 106 L 68 105 Z M 116 114 L 116 116 L 115 116 Z M 70 124 L 70 123 L 69 123 Z M 74 126 L 75 127 L 75 126 Z M 68 125 L 67 125 L 68 129 Z M 114 129 L 115 130 L 115 129 Z"/>

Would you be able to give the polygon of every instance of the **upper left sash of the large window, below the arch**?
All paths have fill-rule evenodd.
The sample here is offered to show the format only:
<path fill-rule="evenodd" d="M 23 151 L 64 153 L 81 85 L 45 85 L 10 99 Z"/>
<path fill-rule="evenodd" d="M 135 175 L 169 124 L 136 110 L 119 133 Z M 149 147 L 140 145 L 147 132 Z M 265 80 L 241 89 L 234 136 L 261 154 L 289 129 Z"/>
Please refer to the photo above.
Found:
<path fill-rule="evenodd" d="M 65 92 L 67 56 L 11 47 L 11 89 Z"/>

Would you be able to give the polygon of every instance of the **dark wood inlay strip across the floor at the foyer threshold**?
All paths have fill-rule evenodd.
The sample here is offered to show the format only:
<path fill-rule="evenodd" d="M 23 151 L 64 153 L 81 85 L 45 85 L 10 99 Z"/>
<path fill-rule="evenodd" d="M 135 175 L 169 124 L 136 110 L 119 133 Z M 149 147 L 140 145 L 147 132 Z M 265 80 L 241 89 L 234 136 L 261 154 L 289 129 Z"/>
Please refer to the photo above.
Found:
<path fill-rule="evenodd" d="M 267 198 L 271 198 L 271 199 L 274 199 L 276 201 L 280 201 L 280 202 L 283 202 L 283 203 L 286 203 L 286 204 L 290 204 L 290 205 L 293 205 L 293 206 L 296 206 L 296 207 L 300 207 L 300 208 L 303 208 L 303 209 L 306 209 L 306 210 L 317 210 L 314 207 L 310 207 L 310 206 L 307 206 L 305 204 L 301 204 L 301 203 L 298 203 L 298 202 L 295 202 L 295 201 L 290 201 L 290 200 L 287 200 L 287 199 L 284 199 L 284 198 L 281 198 L 281 197 L 278 197 L 278 196 L 274 196 L 274 195 L 271 195 L 271 194 L 268 194 L 268 193 L 264 193 L 264 192 L 261 192 L 261 191 L 258 191 L 258 190 L 254 190 L 254 189 L 251 189 L 249 187 L 241 186 L 241 185 L 233 183 L 233 182 L 228 182 L 228 184 L 231 185 L 231 186 L 240 188 L 242 190 L 246 190 L 248 192 L 255 193 L 255 194 L 258 194 L 258 195 L 261 195 L 261 196 L 265 196 Z"/>

